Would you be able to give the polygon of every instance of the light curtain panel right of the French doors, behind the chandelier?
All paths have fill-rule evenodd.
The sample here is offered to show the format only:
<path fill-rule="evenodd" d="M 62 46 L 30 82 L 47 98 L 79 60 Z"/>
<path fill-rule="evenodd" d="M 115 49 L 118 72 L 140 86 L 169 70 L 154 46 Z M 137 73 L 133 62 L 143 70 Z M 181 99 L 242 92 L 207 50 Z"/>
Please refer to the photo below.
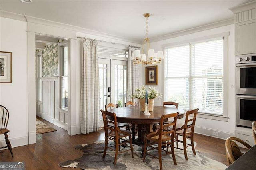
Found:
<path fill-rule="evenodd" d="M 130 95 L 134 92 L 135 88 L 140 87 L 142 85 L 142 77 L 141 77 L 141 65 L 135 64 L 133 65 L 132 61 L 132 53 L 139 48 L 137 47 L 129 47 L 128 51 L 128 76 L 127 76 L 127 94 L 126 94 L 126 101 L 138 101 L 132 99 Z"/>

